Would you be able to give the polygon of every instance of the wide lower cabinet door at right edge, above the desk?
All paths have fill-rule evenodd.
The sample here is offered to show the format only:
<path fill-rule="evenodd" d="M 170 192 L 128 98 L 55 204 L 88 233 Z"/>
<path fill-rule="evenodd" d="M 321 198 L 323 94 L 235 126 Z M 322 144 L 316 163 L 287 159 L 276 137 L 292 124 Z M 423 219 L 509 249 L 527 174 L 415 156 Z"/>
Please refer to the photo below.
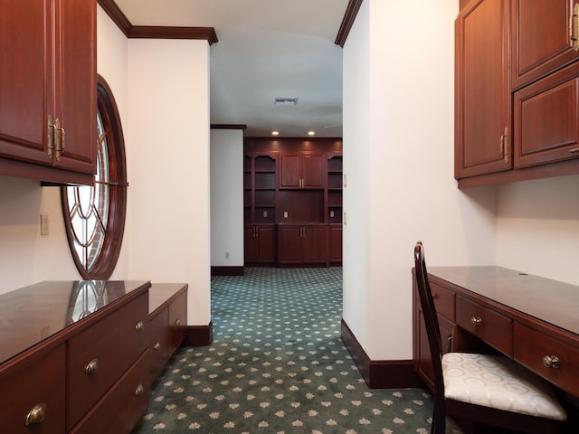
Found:
<path fill-rule="evenodd" d="M 579 62 L 514 95 L 516 167 L 579 158 Z"/>

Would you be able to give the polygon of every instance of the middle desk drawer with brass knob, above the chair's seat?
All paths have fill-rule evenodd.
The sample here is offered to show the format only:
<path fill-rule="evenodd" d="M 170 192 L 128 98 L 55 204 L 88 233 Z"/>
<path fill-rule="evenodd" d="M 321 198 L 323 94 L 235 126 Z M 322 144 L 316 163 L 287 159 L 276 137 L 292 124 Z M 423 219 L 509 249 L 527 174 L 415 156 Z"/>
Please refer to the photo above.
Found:
<path fill-rule="evenodd" d="M 456 323 L 501 353 L 513 356 L 513 320 L 508 316 L 457 295 Z"/>

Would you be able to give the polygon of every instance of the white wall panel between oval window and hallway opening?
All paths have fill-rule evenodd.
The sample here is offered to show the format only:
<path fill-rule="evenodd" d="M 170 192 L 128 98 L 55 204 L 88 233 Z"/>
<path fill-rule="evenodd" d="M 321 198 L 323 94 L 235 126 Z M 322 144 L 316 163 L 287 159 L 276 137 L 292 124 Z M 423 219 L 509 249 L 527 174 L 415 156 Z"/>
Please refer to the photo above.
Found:
<path fill-rule="evenodd" d="M 188 324 L 208 325 L 207 41 L 128 41 L 126 138 L 129 278 L 188 283 Z"/>

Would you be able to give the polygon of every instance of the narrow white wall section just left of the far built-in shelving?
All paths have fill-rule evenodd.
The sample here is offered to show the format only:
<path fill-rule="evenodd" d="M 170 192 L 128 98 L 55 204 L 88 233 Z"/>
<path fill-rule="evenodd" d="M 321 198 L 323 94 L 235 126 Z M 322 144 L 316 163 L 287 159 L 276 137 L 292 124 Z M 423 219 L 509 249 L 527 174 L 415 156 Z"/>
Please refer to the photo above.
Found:
<path fill-rule="evenodd" d="M 242 267 L 243 130 L 212 129 L 210 156 L 211 265 Z"/>

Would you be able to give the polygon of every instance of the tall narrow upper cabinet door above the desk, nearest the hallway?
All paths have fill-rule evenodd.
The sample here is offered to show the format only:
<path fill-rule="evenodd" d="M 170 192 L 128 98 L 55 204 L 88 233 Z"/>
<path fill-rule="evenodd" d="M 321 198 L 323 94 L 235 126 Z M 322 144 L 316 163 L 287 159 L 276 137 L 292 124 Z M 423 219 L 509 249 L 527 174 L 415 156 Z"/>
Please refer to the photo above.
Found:
<path fill-rule="evenodd" d="M 510 130 L 508 0 L 469 5 L 456 21 L 457 179 L 512 168 L 508 148 L 503 154 Z"/>

